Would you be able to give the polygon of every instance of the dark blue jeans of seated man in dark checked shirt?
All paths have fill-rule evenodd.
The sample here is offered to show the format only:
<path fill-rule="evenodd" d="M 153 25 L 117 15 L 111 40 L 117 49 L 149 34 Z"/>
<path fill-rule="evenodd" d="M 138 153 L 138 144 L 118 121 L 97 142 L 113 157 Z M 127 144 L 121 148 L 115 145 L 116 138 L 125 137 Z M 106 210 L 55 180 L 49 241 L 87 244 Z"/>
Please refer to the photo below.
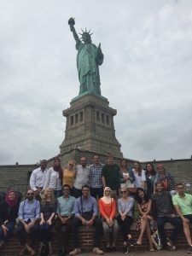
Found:
<path fill-rule="evenodd" d="M 164 229 L 164 225 L 166 224 L 166 222 L 169 222 L 174 226 L 174 229 L 172 230 L 172 234 L 170 235 L 170 240 L 173 242 L 173 244 L 175 243 L 175 241 L 177 239 L 178 233 L 183 229 L 182 222 L 177 217 L 169 217 L 169 216 L 158 217 L 157 218 L 157 228 L 160 233 L 162 245 L 165 247 L 167 244 L 166 231 Z"/>

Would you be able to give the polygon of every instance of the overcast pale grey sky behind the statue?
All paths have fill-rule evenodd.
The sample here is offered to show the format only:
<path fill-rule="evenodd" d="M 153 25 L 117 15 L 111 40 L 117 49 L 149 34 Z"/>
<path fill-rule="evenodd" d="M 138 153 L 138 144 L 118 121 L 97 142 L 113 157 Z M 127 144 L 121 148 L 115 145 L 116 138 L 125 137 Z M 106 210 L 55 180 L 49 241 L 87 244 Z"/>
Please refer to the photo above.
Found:
<path fill-rule="evenodd" d="M 135 160 L 192 154 L 191 0 L 0 0 L 0 165 L 59 154 L 79 94 L 75 28 L 102 44 L 102 96 Z"/>

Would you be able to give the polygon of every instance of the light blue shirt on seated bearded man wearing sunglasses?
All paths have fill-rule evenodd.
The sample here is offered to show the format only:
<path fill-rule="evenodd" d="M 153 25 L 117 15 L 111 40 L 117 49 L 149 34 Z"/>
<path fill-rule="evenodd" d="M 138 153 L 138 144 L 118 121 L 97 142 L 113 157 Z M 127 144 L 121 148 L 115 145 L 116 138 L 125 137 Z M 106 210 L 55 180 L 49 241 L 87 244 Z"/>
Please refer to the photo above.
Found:
<path fill-rule="evenodd" d="M 20 202 L 18 217 L 20 219 L 40 218 L 40 203 L 37 200 L 28 201 L 28 199 Z"/>

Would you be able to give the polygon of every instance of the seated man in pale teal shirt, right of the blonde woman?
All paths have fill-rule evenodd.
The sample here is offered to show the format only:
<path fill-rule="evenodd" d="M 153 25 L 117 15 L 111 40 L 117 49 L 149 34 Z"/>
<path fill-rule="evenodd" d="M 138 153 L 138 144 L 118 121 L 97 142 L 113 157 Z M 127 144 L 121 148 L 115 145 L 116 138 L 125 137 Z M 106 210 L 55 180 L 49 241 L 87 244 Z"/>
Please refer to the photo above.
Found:
<path fill-rule="evenodd" d="M 70 186 L 63 185 L 63 195 L 57 199 L 57 219 L 55 222 L 55 231 L 59 243 L 59 256 L 64 256 L 67 253 L 68 239 L 72 230 L 73 207 L 76 199 L 70 195 Z M 62 232 L 62 227 L 65 226 L 65 231 Z"/>

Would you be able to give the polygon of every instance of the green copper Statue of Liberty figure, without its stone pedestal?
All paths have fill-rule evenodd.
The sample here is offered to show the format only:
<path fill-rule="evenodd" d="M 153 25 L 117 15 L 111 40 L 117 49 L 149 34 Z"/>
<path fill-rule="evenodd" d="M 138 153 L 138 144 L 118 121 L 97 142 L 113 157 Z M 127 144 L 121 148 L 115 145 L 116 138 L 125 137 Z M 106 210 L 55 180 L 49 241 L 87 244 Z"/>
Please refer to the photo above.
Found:
<path fill-rule="evenodd" d="M 79 96 L 86 93 L 101 96 L 99 66 L 102 65 L 104 59 L 101 44 L 99 44 L 98 47 L 96 47 L 95 44 L 92 44 L 90 31 L 87 32 L 86 29 L 85 31 L 82 30 L 82 43 L 75 31 L 74 19 L 70 18 L 68 24 L 71 28 L 71 32 L 73 32 L 73 37 L 76 41 L 76 49 L 78 50 L 77 67 L 80 82 Z"/>

